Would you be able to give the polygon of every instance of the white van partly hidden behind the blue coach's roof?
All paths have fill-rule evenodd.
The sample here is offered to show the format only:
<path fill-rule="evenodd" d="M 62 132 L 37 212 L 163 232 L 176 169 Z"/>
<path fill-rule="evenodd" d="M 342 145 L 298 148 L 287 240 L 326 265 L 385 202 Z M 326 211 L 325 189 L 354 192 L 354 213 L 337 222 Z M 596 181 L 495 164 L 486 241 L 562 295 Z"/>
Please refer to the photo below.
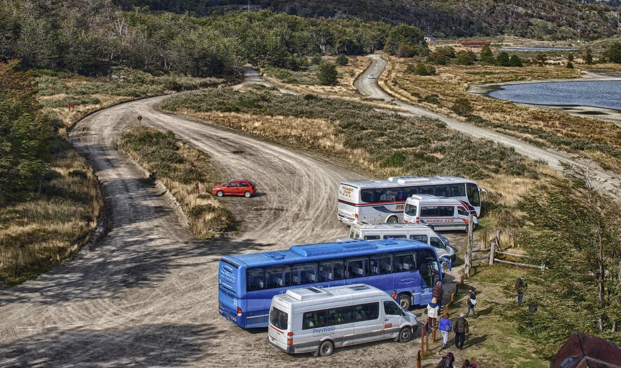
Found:
<path fill-rule="evenodd" d="M 370 224 L 364 221 L 356 221 L 351 224 L 350 238 L 363 240 L 380 239 L 410 239 L 418 240 L 435 248 L 438 258 L 443 256 L 455 262 L 455 249 L 450 247 L 448 239 L 436 233 L 432 228 L 422 223 L 378 223 Z"/>

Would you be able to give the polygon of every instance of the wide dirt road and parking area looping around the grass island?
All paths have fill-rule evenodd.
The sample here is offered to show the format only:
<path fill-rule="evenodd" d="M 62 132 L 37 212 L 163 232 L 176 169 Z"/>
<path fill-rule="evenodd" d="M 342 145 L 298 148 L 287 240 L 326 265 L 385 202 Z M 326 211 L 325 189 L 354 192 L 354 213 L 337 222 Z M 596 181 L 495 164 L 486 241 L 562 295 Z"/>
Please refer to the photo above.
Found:
<path fill-rule="evenodd" d="M 220 256 L 346 236 L 335 216 L 337 185 L 361 177 L 247 135 L 162 114 L 156 106 L 163 98 L 102 110 L 71 133 L 101 181 L 110 230 L 75 261 L 2 290 L 0 367 L 411 365 L 416 341 L 345 348 L 325 359 L 291 357 L 267 343 L 266 329 L 241 330 L 218 315 Z M 114 148 L 138 115 L 212 155 L 230 177 L 257 183 L 260 195 L 226 199 L 239 236 L 193 240 L 162 193 Z"/>

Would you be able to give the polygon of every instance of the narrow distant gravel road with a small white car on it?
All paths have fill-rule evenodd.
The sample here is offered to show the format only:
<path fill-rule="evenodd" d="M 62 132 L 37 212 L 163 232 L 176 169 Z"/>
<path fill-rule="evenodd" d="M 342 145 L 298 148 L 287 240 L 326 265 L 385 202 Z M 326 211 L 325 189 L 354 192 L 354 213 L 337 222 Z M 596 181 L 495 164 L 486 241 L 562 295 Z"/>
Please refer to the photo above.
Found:
<path fill-rule="evenodd" d="M 369 73 L 373 73 L 375 78 L 379 78 L 379 76 L 386 69 L 386 60 L 382 58 L 382 55 L 374 54 L 368 56 L 372 63 L 369 68 L 362 74 L 361 78 L 357 79 L 354 83 L 355 87 L 365 96 L 384 99 L 385 101 L 391 101 L 394 99 L 393 96 L 390 96 L 388 93 L 384 92 L 383 89 L 379 88 L 377 79 L 369 79 L 367 75 Z M 455 119 L 451 119 L 449 117 L 445 117 L 440 114 L 436 114 L 435 112 L 429 111 L 427 109 L 423 109 L 421 107 L 417 107 L 414 105 L 407 104 L 406 102 L 399 101 L 396 99 L 395 104 L 406 109 L 410 114 L 415 116 L 428 116 L 433 119 L 442 120 L 445 122 L 448 127 L 451 129 L 458 130 L 462 133 L 466 133 L 475 138 L 484 138 L 487 140 L 492 140 L 497 143 L 501 143 L 505 146 L 509 146 L 515 149 L 521 155 L 530 157 L 532 159 L 542 159 L 546 161 L 551 168 L 561 171 L 562 167 L 560 163 L 571 163 L 571 164 L 580 164 L 582 166 L 586 166 L 591 171 L 602 180 L 612 180 L 612 174 L 608 173 L 605 170 L 602 170 L 596 164 L 580 160 L 577 158 L 571 157 L 569 154 L 546 150 L 545 148 L 540 148 L 519 139 L 509 137 L 508 135 L 504 135 L 501 133 L 494 132 L 493 130 L 489 130 L 486 128 L 475 127 L 474 125 L 470 125 L 468 123 L 463 123 Z"/>

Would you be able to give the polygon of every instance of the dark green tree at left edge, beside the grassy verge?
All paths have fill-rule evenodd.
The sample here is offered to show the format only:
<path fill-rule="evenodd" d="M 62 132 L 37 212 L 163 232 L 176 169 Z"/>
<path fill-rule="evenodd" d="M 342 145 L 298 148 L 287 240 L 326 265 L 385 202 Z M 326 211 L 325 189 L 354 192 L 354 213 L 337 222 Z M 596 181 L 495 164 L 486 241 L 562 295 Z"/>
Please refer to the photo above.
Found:
<path fill-rule="evenodd" d="M 48 169 L 50 119 L 18 64 L 0 62 L 0 206 L 28 199 Z"/>

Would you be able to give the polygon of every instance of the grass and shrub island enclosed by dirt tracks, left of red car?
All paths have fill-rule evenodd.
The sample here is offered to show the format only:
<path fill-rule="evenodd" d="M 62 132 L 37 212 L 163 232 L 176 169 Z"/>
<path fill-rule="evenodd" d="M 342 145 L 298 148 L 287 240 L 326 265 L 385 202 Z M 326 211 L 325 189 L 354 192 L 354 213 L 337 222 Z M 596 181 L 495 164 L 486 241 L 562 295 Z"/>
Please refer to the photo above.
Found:
<path fill-rule="evenodd" d="M 232 213 L 209 192 L 222 181 L 209 155 L 177 140 L 173 132 L 144 127 L 125 133 L 120 147 L 173 194 L 188 216 L 194 236 L 206 239 L 235 230 Z M 197 181 L 200 192 L 194 189 Z"/>

